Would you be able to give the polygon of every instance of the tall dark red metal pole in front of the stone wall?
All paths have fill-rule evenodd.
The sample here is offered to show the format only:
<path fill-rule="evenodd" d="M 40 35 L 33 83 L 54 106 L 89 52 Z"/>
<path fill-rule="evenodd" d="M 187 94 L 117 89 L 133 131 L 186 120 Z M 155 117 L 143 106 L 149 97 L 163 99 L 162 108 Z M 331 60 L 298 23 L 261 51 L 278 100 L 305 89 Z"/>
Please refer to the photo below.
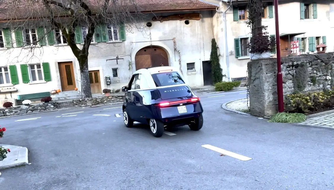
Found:
<path fill-rule="evenodd" d="M 275 26 L 276 26 L 276 50 L 277 50 L 277 98 L 278 112 L 284 112 L 283 102 L 283 77 L 281 70 L 281 46 L 280 46 L 280 30 L 278 24 L 278 0 L 274 0 L 275 4 Z"/>

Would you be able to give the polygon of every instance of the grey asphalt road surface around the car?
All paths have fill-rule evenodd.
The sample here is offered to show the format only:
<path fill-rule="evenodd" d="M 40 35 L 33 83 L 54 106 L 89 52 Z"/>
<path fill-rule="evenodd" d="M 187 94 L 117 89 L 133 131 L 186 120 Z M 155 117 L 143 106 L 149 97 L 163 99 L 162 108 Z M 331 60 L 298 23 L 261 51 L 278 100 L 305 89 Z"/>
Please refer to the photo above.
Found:
<path fill-rule="evenodd" d="M 27 147 L 31 163 L 1 171 L 0 189 L 333 190 L 334 131 L 221 109 L 245 96 L 202 95 L 203 128 L 160 138 L 145 125 L 126 128 L 121 105 L 0 119 L 1 143 Z"/>

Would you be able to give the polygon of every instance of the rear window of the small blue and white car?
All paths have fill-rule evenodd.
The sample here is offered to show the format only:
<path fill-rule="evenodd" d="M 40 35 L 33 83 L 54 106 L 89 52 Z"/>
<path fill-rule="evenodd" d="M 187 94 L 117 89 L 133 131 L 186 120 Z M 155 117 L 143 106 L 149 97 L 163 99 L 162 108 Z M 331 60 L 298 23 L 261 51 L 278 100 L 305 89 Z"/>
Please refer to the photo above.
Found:
<path fill-rule="evenodd" d="M 157 87 L 175 84 L 184 84 L 181 76 L 177 72 L 163 72 L 152 74 L 152 78 Z"/>

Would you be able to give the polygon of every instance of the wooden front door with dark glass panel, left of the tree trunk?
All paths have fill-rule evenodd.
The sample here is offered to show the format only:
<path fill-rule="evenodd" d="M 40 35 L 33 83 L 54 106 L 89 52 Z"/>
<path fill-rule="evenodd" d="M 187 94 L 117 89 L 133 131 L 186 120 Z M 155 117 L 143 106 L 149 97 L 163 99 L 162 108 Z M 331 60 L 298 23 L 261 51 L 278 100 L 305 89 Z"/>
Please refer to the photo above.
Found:
<path fill-rule="evenodd" d="M 72 62 L 61 62 L 58 63 L 60 83 L 62 91 L 74 90 L 75 77 Z"/>

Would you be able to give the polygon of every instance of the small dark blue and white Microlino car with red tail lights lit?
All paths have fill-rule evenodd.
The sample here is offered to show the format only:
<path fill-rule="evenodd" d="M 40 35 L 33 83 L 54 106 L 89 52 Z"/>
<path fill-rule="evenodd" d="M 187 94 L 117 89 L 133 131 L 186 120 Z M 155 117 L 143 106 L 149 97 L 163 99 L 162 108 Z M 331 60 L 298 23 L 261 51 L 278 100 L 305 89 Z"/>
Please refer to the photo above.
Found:
<path fill-rule="evenodd" d="M 140 69 L 123 90 L 123 120 L 127 127 L 132 127 L 134 121 L 149 124 L 152 135 L 161 137 L 165 128 L 188 125 L 197 131 L 203 126 L 199 98 L 174 67 Z"/>

